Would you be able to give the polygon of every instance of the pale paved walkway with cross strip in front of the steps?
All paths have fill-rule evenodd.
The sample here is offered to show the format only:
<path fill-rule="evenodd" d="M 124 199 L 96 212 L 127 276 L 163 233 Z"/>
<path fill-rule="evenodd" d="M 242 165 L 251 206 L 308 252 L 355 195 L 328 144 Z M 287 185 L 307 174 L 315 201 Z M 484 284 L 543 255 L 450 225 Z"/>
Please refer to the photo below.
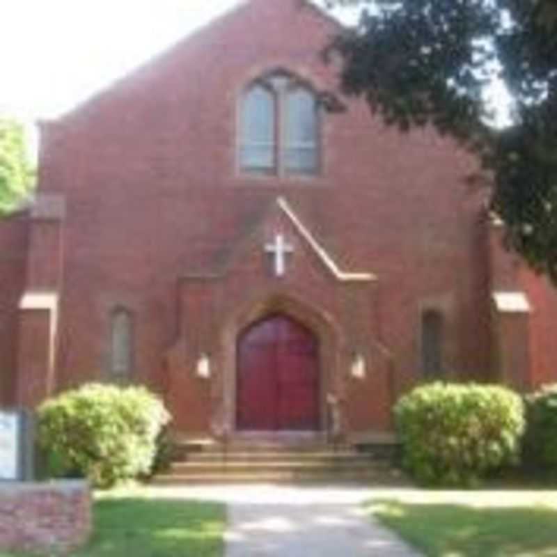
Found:
<path fill-rule="evenodd" d="M 155 487 L 165 499 L 228 505 L 226 557 L 419 557 L 372 518 L 362 503 L 394 499 L 409 504 L 557 508 L 557 491 L 430 491 L 382 487 L 212 485 Z"/>

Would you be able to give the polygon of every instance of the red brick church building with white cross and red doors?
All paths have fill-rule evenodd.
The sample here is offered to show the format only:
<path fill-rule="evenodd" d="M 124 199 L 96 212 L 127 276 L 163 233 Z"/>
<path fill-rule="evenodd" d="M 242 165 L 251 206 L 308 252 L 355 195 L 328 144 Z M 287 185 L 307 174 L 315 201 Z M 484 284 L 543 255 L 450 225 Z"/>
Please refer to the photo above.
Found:
<path fill-rule="evenodd" d="M 241 3 L 41 125 L 0 222 L 0 397 L 160 393 L 182 435 L 391 431 L 426 379 L 557 380 L 557 296 L 501 247 L 474 160 L 339 92 L 338 24 Z"/>

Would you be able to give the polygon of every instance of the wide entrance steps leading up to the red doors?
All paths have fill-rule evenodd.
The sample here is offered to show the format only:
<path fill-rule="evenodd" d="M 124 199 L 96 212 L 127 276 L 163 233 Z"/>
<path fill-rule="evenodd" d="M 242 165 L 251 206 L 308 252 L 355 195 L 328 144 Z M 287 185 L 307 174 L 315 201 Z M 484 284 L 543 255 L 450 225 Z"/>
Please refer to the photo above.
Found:
<path fill-rule="evenodd" d="M 324 441 L 185 442 L 155 485 L 205 483 L 400 483 L 393 466 L 395 446 L 358 450 Z"/>

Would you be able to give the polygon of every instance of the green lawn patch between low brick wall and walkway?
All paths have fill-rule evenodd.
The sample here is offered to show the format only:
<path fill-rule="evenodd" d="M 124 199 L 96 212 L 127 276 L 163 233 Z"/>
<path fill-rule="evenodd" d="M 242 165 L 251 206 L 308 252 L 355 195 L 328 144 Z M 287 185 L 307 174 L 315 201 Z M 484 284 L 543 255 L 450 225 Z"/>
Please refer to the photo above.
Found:
<path fill-rule="evenodd" d="M 72 557 L 221 557 L 225 510 L 217 503 L 101 496 L 88 546 Z M 16 557 L 2 554 L 0 557 Z M 22 557 L 22 556 L 17 556 Z M 49 556 L 50 557 L 50 556 Z"/>

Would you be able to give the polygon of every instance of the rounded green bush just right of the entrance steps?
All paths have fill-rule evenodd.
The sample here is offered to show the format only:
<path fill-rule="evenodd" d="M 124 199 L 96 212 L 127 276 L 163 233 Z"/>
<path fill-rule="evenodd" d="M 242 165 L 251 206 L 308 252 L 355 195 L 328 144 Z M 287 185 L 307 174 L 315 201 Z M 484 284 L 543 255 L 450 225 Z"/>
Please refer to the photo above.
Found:
<path fill-rule="evenodd" d="M 524 404 L 501 386 L 421 386 L 398 401 L 395 419 L 405 466 L 421 483 L 473 485 L 519 460 Z"/>

